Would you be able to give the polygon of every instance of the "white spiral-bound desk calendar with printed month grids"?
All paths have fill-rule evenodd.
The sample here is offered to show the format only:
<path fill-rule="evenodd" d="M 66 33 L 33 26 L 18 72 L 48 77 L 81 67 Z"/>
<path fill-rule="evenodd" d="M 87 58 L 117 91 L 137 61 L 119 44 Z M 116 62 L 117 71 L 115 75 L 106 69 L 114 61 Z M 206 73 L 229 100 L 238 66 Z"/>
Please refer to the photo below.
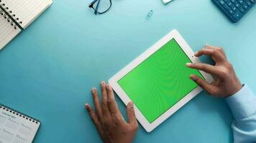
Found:
<path fill-rule="evenodd" d="M 31 143 L 40 121 L 0 104 L 0 143 Z"/>

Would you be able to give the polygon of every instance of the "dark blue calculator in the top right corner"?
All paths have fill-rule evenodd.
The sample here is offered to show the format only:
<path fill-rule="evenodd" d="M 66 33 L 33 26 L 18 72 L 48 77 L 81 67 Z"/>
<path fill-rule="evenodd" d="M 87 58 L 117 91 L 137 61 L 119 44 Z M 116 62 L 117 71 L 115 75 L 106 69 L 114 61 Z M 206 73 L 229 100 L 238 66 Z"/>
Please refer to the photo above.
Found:
<path fill-rule="evenodd" d="M 256 0 L 212 0 L 233 23 L 237 23 L 255 5 Z"/>

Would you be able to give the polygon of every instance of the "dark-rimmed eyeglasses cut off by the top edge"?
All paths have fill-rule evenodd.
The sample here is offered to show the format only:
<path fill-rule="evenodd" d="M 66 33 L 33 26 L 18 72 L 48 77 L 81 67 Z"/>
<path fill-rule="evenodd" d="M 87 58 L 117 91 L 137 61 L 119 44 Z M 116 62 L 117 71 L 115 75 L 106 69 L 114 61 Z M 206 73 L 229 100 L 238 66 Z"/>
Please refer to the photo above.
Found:
<path fill-rule="evenodd" d="M 112 0 L 93 0 L 89 8 L 94 9 L 94 14 L 104 14 L 112 6 Z"/>

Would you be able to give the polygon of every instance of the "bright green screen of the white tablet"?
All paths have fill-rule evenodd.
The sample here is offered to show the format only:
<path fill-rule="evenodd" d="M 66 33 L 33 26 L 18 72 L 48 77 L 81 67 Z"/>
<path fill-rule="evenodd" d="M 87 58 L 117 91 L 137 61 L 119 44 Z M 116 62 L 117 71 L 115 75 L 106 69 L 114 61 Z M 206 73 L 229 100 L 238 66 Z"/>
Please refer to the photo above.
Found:
<path fill-rule="evenodd" d="M 204 79 L 198 70 L 186 66 L 191 62 L 177 41 L 171 39 L 117 83 L 152 123 L 198 87 L 189 79 L 191 74 Z"/>

